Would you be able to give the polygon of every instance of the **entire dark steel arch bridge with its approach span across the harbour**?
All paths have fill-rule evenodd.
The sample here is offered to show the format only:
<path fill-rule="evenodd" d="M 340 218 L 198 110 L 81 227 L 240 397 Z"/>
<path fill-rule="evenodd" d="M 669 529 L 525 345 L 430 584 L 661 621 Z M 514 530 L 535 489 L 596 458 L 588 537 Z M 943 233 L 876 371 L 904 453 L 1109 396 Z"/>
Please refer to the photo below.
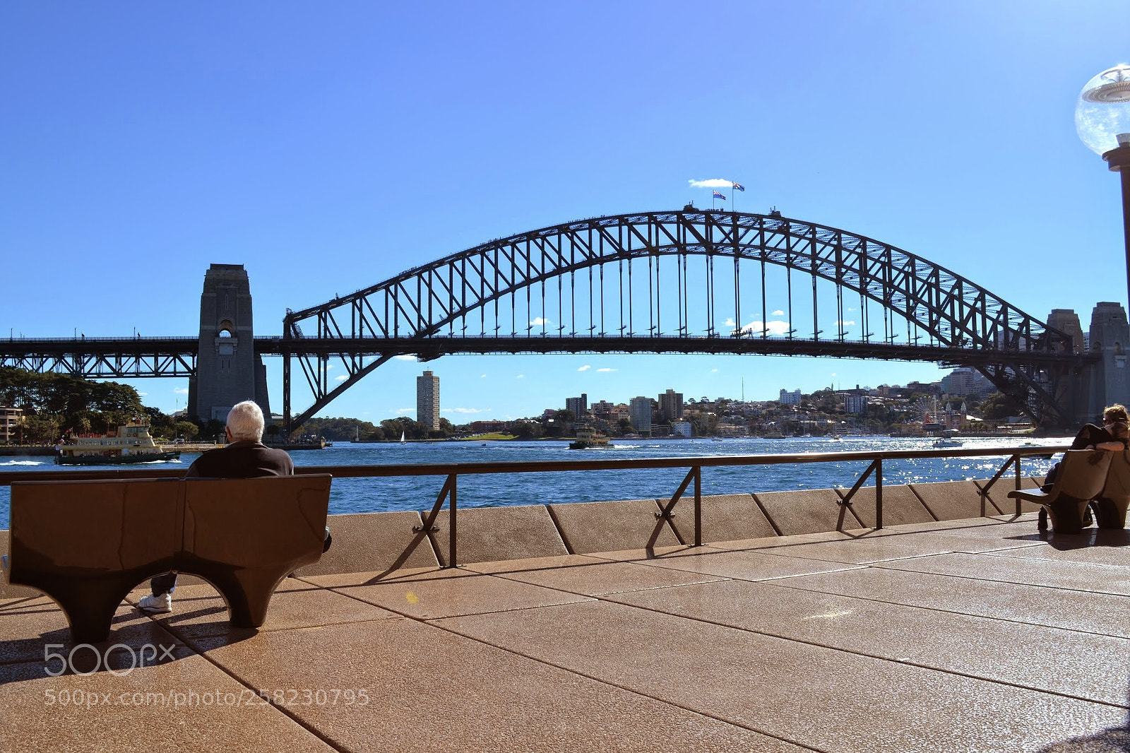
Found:
<path fill-rule="evenodd" d="M 238 270 L 246 287 L 242 267 L 212 267 Z M 0 341 L 0 365 L 84 378 L 189 376 L 190 414 L 208 418 L 217 417 L 209 406 L 257 389 L 208 398 L 236 372 L 253 372 L 252 355 L 260 370 L 261 357 L 278 356 L 288 431 L 398 355 L 727 353 L 963 365 L 1014 397 L 1034 423 L 1058 427 L 1102 405 L 1104 367 L 1112 371 L 1102 345 L 1083 352 L 1071 335 L 945 267 L 776 211 L 688 205 L 492 240 L 287 310 L 276 337 L 252 334 L 250 293 L 209 293 L 206 278 L 199 336 L 9 339 Z M 233 365 L 236 353 L 245 367 Z M 331 380 L 331 362 L 344 379 L 338 371 Z M 257 382 L 249 378 L 243 384 Z M 299 379 L 313 398 L 301 410 Z"/>

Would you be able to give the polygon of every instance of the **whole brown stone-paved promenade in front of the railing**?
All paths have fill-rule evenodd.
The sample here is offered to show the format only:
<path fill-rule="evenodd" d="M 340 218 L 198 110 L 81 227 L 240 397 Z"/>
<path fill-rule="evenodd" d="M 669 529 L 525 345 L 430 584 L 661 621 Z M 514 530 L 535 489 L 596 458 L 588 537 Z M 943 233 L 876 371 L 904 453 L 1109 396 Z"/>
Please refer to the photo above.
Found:
<path fill-rule="evenodd" d="M 1130 534 L 1033 518 L 182 586 L 87 676 L 0 599 L 0 750 L 1130 750 Z"/>

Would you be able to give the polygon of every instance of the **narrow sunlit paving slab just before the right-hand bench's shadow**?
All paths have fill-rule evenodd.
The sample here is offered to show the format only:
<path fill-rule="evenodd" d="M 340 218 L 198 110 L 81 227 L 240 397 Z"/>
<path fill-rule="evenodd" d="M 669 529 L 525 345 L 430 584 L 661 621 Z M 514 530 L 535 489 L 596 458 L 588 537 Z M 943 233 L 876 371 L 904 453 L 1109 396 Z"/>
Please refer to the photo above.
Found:
<path fill-rule="evenodd" d="M 956 553 L 880 562 L 873 566 L 1130 596 L 1130 572 L 1124 568 L 1105 564 L 1049 562 Z"/>

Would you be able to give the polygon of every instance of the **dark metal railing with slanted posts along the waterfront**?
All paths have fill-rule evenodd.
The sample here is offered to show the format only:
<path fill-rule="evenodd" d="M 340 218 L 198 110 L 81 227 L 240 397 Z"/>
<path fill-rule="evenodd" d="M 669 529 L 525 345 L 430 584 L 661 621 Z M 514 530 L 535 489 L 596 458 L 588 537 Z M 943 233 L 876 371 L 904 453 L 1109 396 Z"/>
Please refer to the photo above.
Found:
<path fill-rule="evenodd" d="M 687 487 L 694 483 L 694 546 L 702 546 L 702 469 L 732 466 L 775 466 L 798 465 L 809 462 L 850 462 L 869 461 L 867 469 L 859 476 L 854 485 L 840 500 L 840 504 L 850 507 L 852 497 L 862 488 L 863 483 L 875 477 L 875 527 L 883 528 L 883 462 L 885 460 L 915 460 L 920 458 L 980 458 L 1007 457 L 1005 464 L 981 487 L 982 509 L 989 490 L 1011 467 L 1016 471 L 1016 488 L 1020 488 L 1020 460 L 1026 457 L 1043 457 L 1062 452 L 1063 445 L 1049 447 L 1010 447 L 1010 448 L 970 448 L 944 450 L 887 450 L 880 452 L 805 452 L 796 455 L 737 455 L 692 458 L 637 458 L 619 460 L 536 460 L 516 462 L 450 462 L 450 464 L 415 464 L 415 465 L 381 465 L 381 466 L 298 466 L 296 475 L 331 474 L 334 478 L 368 478 L 393 476 L 446 476 L 443 487 L 436 496 L 432 510 L 424 517 L 423 526 L 414 527 L 416 531 L 428 534 L 437 530 L 436 518 L 447 502 L 449 562 L 445 566 L 454 568 L 458 560 L 458 478 L 459 476 L 484 474 L 534 474 L 534 473 L 570 473 L 591 470 L 640 470 L 647 468 L 686 468 L 687 475 L 679 484 L 667 504 L 660 505 L 657 519 L 670 521 L 676 503 L 683 499 Z M 0 473 L 0 486 L 16 482 L 51 482 L 51 481 L 111 481 L 129 478 L 182 478 L 188 468 L 176 470 L 155 468 L 120 468 L 113 470 L 15 470 Z M 1020 514 L 1020 501 L 1016 501 L 1016 514 Z"/>

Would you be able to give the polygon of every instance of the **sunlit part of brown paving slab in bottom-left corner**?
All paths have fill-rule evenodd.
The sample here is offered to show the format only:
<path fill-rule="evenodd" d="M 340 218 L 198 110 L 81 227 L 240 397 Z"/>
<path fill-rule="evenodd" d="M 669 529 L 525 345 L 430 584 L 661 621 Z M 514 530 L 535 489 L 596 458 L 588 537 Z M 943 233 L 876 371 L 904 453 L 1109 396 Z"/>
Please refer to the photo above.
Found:
<path fill-rule="evenodd" d="M 0 666 L 0 751 L 333 751 L 203 657 L 116 672 L 50 677 L 37 663 Z"/>

